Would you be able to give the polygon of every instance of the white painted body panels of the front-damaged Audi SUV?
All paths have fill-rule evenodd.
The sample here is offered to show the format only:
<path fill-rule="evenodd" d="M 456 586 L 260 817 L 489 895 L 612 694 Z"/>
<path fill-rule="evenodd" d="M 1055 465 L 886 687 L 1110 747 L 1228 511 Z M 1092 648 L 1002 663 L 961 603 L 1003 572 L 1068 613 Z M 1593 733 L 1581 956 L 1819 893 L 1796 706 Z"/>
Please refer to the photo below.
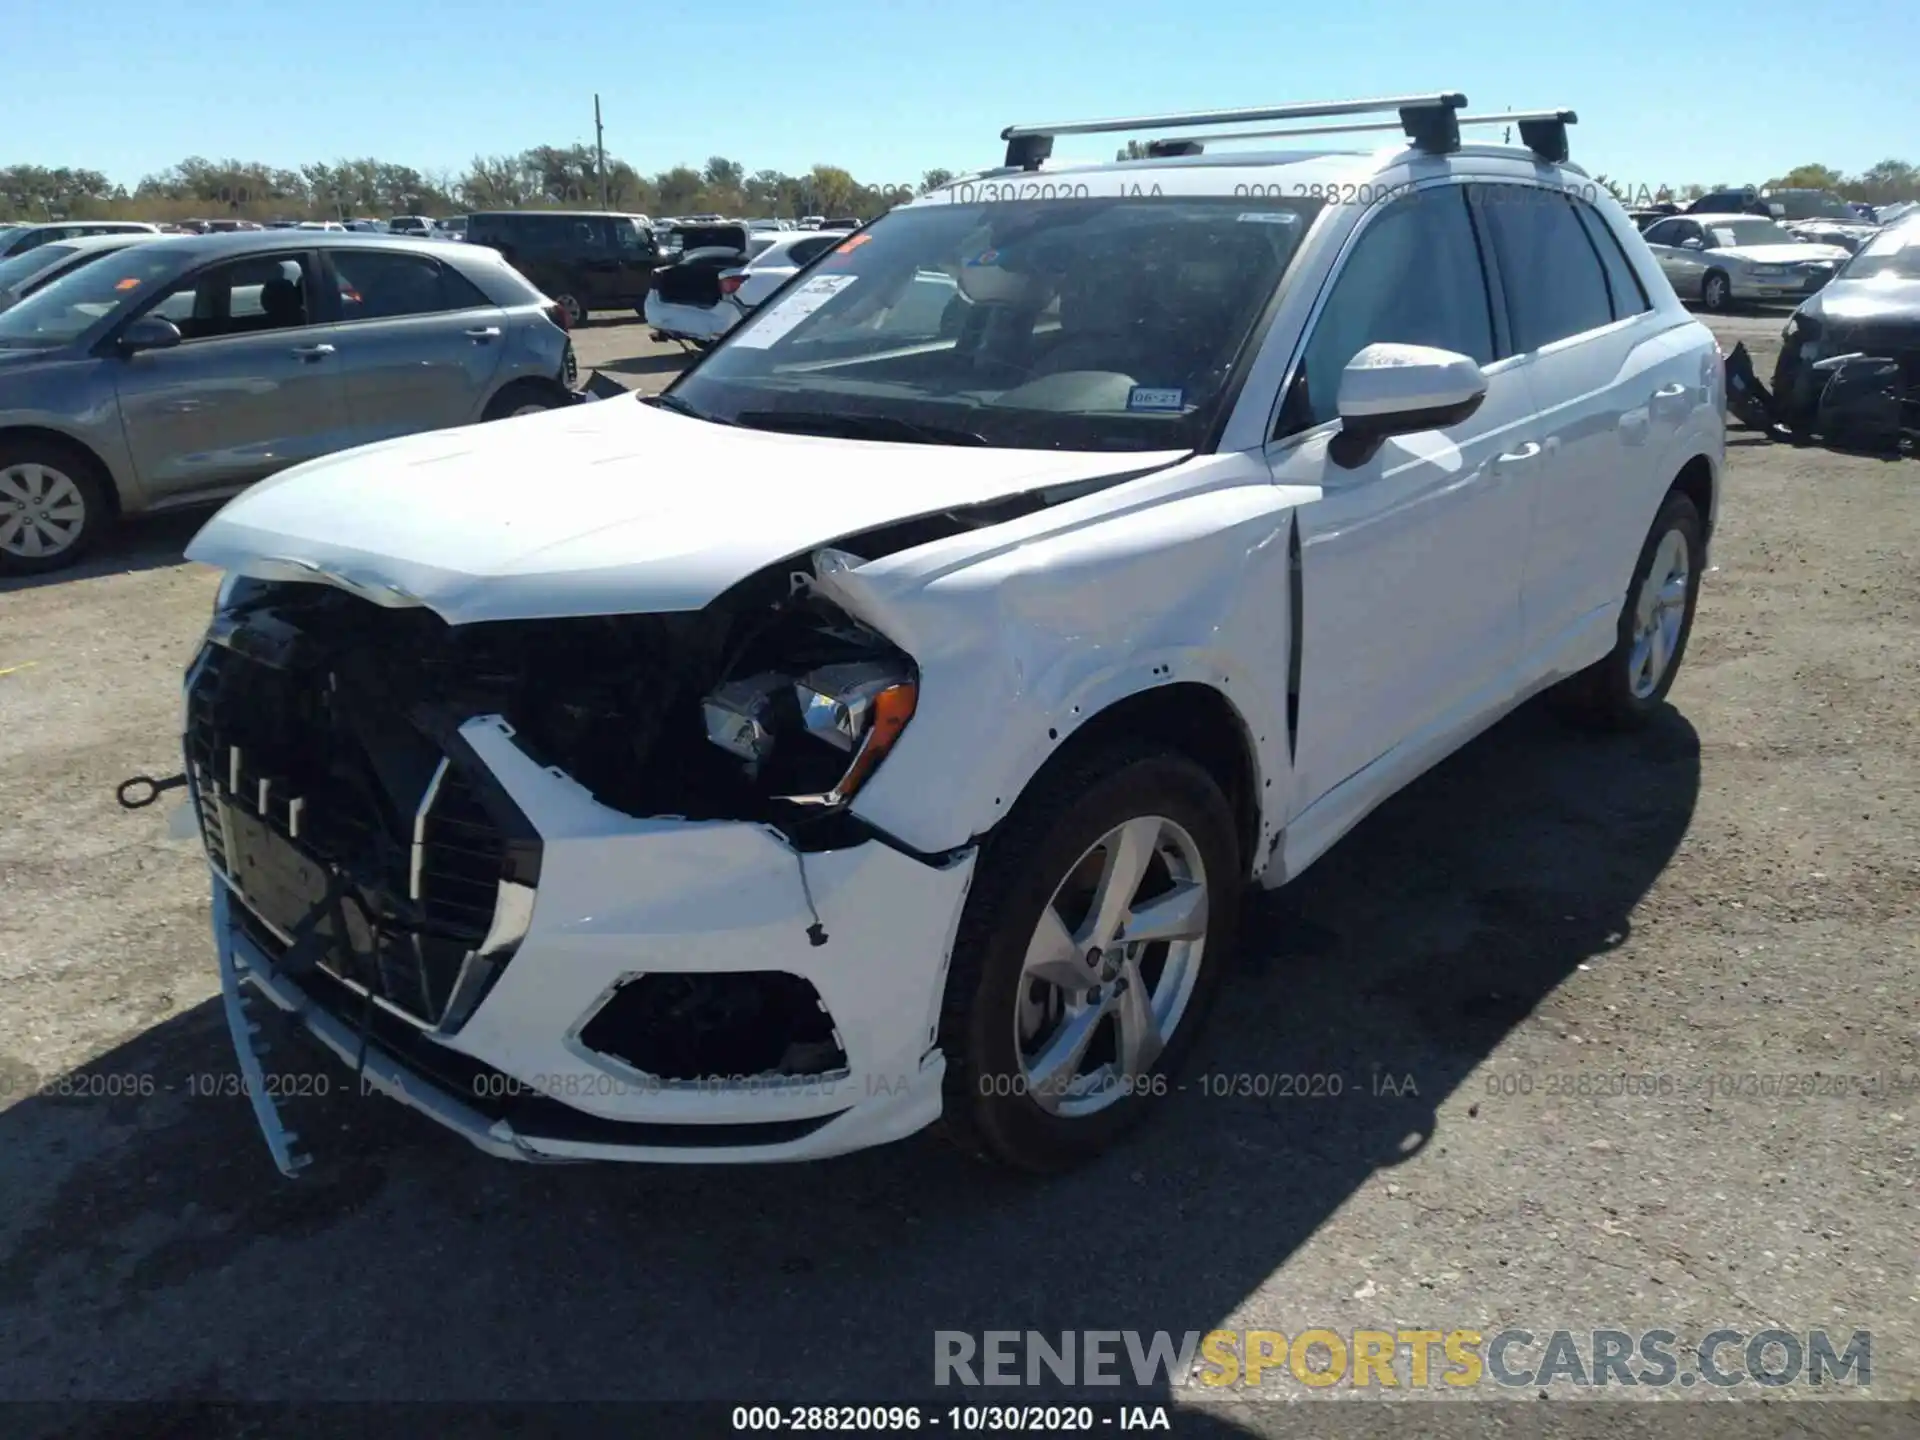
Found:
<path fill-rule="evenodd" d="M 1365 223 L 1409 186 L 1461 180 L 1590 198 L 1651 307 L 1475 367 L 1486 396 L 1469 420 L 1388 440 L 1356 468 L 1329 457 L 1338 420 L 1269 442 L 1329 276 Z M 891 843 L 804 858 L 762 826 L 609 810 L 536 766 L 497 718 L 465 726 L 547 849 L 526 945 L 453 1044 L 522 1079 L 618 1077 L 572 1037 L 622 975 L 770 966 L 810 977 L 847 1041 L 851 1108 L 806 1087 L 636 1085 L 578 1102 L 603 1117 L 680 1123 L 847 1110 L 804 1140 L 549 1156 L 785 1160 L 918 1129 L 939 1110 L 935 1016 L 977 841 L 1081 726 L 1164 685 L 1217 695 L 1252 760 L 1250 874 L 1277 885 L 1528 695 L 1605 655 L 1676 476 L 1703 463 L 1716 493 L 1724 396 L 1711 336 L 1624 211 L 1578 171 L 1488 148 L 1140 161 L 966 180 L 916 204 L 1081 182 L 1169 194 L 1365 186 L 1313 221 L 1212 453 L 816 440 L 614 401 L 303 467 L 228 505 L 190 547 L 244 574 L 428 605 L 455 624 L 697 609 L 828 547 L 812 584 L 914 657 L 918 710 L 854 801 Z M 564 505 L 553 503 L 561 486 Z M 860 532 L 889 520 L 1033 490 L 1056 503 L 858 553 Z M 801 864 L 826 947 L 804 937 Z M 221 945 L 244 947 L 223 916 Z M 288 1004 L 271 966 L 257 975 Z M 434 1106 L 492 1152 L 526 1152 L 511 1135 L 449 1119 L 444 1096 L 422 1102 Z"/>

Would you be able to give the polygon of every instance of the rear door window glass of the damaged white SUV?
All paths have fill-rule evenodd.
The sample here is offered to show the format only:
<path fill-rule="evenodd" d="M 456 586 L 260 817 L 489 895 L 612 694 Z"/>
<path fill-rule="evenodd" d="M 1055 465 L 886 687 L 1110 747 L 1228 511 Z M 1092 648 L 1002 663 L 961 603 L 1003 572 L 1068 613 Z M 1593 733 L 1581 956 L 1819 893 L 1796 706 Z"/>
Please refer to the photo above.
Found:
<path fill-rule="evenodd" d="M 1572 202 L 1530 184 L 1476 188 L 1517 351 L 1613 323 L 1607 275 Z"/>

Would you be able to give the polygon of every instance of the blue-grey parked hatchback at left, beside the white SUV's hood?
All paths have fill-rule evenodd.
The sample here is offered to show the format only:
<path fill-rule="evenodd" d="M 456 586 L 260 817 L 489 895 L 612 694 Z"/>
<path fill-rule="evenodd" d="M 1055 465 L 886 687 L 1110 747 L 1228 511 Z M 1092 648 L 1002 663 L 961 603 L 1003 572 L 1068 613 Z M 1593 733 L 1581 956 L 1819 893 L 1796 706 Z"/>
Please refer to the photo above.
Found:
<path fill-rule="evenodd" d="M 490 250 L 129 246 L 0 315 L 0 576 L 319 455 L 564 405 L 574 374 L 559 307 Z"/>

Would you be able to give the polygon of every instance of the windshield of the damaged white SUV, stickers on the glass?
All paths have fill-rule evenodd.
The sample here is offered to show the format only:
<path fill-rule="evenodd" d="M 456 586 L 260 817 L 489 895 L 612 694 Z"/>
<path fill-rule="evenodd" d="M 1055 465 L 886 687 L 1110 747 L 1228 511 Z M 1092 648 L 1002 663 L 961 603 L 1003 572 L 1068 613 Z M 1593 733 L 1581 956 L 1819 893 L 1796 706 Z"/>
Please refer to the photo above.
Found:
<path fill-rule="evenodd" d="M 780 430 L 1196 449 L 1319 209 L 1252 204 L 897 209 L 735 326 L 672 394 L 689 413 Z"/>

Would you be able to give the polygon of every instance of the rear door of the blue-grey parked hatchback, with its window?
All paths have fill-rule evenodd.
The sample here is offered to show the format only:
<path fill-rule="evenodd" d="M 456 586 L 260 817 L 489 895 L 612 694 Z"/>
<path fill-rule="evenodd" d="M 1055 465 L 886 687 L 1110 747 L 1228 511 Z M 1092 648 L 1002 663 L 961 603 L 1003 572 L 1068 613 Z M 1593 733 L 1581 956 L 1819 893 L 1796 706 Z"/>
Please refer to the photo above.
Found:
<path fill-rule="evenodd" d="M 507 353 L 507 313 L 415 250 L 324 252 L 359 444 L 480 419 Z"/>

